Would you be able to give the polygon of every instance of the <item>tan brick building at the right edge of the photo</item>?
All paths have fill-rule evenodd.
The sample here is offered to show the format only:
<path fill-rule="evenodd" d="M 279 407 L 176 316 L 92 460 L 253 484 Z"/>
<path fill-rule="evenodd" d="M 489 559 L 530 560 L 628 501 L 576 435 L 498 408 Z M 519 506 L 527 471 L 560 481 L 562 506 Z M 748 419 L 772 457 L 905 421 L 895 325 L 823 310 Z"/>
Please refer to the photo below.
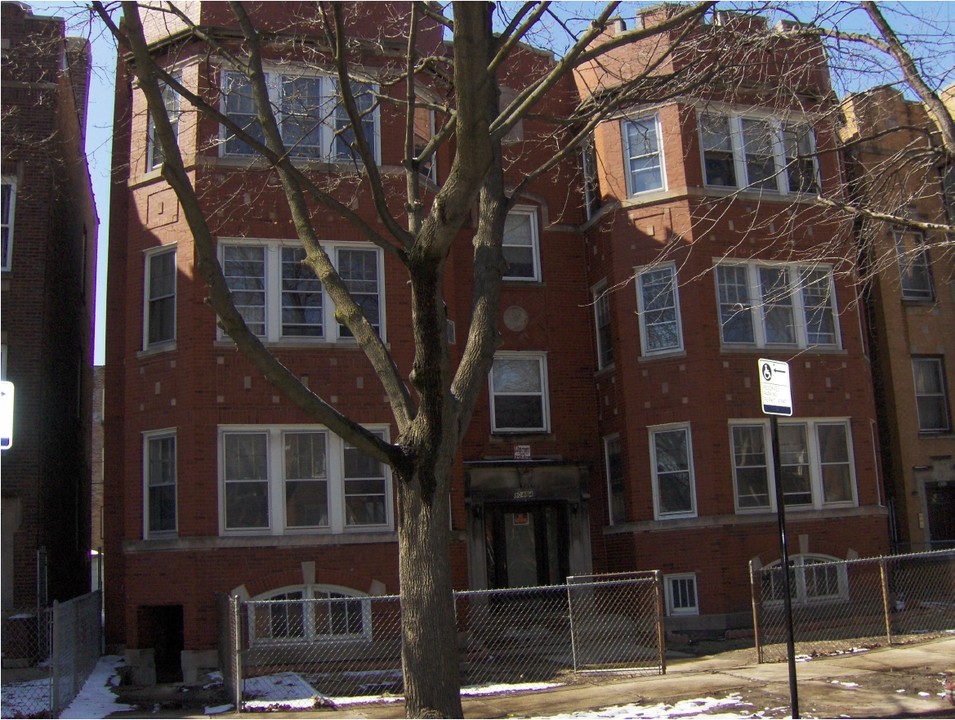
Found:
<path fill-rule="evenodd" d="M 955 112 L 955 86 L 943 99 Z M 937 226 L 955 221 L 955 168 L 919 161 L 934 142 L 932 126 L 922 104 L 897 90 L 855 96 L 844 108 L 854 192 L 902 208 L 916 223 L 873 222 L 862 235 L 872 263 L 867 305 L 892 539 L 903 551 L 952 547 L 955 259 L 952 238 Z"/>

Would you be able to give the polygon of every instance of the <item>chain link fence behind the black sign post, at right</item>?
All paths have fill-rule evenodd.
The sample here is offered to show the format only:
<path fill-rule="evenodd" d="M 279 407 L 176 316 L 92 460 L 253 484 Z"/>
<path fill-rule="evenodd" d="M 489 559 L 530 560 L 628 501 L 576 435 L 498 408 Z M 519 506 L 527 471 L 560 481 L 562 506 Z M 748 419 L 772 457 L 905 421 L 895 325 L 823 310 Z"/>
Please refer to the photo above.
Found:
<path fill-rule="evenodd" d="M 750 563 L 759 662 L 786 660 L 783 569 Z M 902 644 L 955 630 L 955 550 L 790 562 L 797 655 Z"/>

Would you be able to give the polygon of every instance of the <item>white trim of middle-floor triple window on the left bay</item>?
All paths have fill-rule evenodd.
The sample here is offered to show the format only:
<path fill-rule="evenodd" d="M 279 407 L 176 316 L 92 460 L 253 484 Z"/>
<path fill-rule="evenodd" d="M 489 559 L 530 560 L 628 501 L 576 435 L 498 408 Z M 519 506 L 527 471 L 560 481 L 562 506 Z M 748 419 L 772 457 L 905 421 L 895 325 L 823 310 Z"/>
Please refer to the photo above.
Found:
<path fill-rule="evenodd" d="M 267 240 L 263 238 L 220 238 L 217 255 L 220 265 L 223 264 L 223 248 L 226 246 L 248 246 L 265 248 L 265 334 L 260 336 L 264 342 L 285 345 L 319 345 L 327 343 L 354 344 L 355 339 L 349 335 L 342 335 L 338 320 L 335 318 L 335 303 L 322 286 L 322 337 L 282 334 L 282 248 L 300 248 L 297 240 Z M 338 250 L 365 250 L 374 251 L 377 260 L 378 272 L 378 334 L 382 342 L 387 342 L 387 320 L 385 310 L 385 267 L 381 248 L 372 243 L 329 241 L 322 242 L 322 247 L 328 253 L 333 264 L 337 265 Z M 228 335 L 218 328 L 217 338 L 228 340 Z"/>

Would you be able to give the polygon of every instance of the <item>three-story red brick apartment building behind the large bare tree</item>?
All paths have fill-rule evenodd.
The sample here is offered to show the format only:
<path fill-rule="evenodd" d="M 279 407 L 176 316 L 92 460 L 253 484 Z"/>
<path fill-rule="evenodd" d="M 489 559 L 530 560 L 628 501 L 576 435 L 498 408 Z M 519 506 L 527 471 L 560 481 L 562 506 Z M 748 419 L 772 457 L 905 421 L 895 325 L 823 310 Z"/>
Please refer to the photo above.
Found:
<path fill-rule="evenodd" d="M 257 19 L 284 27 L 296 7 L 258 6 Z M 404 7 L 361 4 L 353 34 L 387 53 L 379 34 L 388 13 Z M 229 37 L 221 4 L 196 3 L 194 12 Z M 229 100 L 237 78 L 180 30 L 153 26 L 155 53 L 186 87 L 222 88 L 222 107 L 238 118 L 241 104 Z M 673 61 L 712 61 L 721 34 L 745 32 L 770 30 L 731 16 L 701 22 L 693 30 L 699 55 Z M 851 240 L 849 227 L 828 223 L 807 199 L 842 187 L 833 155 L 817 162 L 813 153 L 833 143 L 832 128 L 814 124 L 831 102 L 824 58 L 785 29 L 770 37 L 772 62 L 740 64 L 732 89 L 603 122 L 585 172 L 559 167 L 509 218 L 503 344 L 452 493 L 457 587 L 659 568 L 674 627 L 749 624 L 748 562 L 779 556 L 759 357 L 790 361 L 794 376 L 795 414 L 781 423 L 792 555 L 810 565 L 887 548 L 863 317 L 850 269 L 812 252 Z M 419 42 L 442 47 L 436 27 Z M 277 60 L 278 44 L 270 52 Z M 621 49 L 619 69 L 649 52 Z M 378 53 L 363 58 L 366 70 L 385 62 Z M 523 50 L 502 72 L 502 94 L 552 61 Z M 802 70 L 793 75 L 795 66 Z M 297 72 L 294 61 L 276 63 L 276 87 L 282 68 Z M 217 331 L 143 97 L 124 72 L 120 63 L 104 428 L 107 642 L 124 646 L 144 678 L 153 662 L 160 676 L 193 677 L 215 664 L 216 593 L 396 592 L 393 488 L 386 468 L 310 424 Z M 308 77 L 320 94 L 327 77 Z M 788 88 L 785 104 L 758 92 L 793 77 L 801 85 Z M 569 113 L 611 78 L 582 72 L 541 114 Z M 310 387 L 393 437 L 382 390 L 330 300 L 295 275 L 301 255 L 278 188 L 242 143 L 174 97 L 169 103 L 247 322 Z M 383 107 L 365 130 L 381 167 L 397 171 L 401 122 Z M 513 177 L 546 157 L 536 142 L 542 132 L 527 118 L 507 138 Z M 744 136 L 762 150 L 747 150 Z M 322 157 L 331 178 L 345 167 L 336 159 Z M 436 183 L 450 159 L 437 157 Z M 375 221 L 370 198 L 353 206 Z M 408 290 L 397 264 L 332 213 L 322 231 L 407 372 Z M 468 327 L 471 232 L 462 232 L 447 273 L 449 331 L 458 339 Z M 283 322 L 283 280 L 321 303 L 321 338 Z M 496 384 L 495 374 L 517 384 Z M 306 447 L 316 443 L 320 450 Z M 289 500 L 297 480 L 283 447 L 325 458 L 315 502 Z M 806 582 L 810 574 L 800 570 L 799 601 L 842 591 L 838 582 Z"/>

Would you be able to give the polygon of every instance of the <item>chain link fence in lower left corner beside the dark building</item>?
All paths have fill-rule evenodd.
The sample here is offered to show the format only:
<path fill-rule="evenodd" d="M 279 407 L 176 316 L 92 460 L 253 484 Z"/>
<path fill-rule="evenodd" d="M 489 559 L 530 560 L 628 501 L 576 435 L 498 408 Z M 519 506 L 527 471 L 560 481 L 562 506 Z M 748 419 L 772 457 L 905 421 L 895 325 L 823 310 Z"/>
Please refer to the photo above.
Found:
<path fill-rule="evenodd" d="M 99 592 L 3 618 L 3 717 L 57 717 L 102 654 Z"/>

